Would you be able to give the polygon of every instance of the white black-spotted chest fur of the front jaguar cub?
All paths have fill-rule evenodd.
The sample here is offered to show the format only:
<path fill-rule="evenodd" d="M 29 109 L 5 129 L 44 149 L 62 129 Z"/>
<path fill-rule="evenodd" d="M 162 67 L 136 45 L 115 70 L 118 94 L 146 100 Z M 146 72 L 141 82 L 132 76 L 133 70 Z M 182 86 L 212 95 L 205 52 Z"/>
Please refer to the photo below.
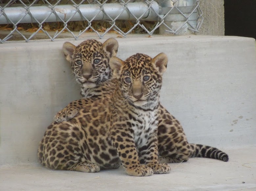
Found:
<path fill-rule="evenodd" d="M 148 138 L 152 132 L 157 128 L 158 121 L 157 110 L 154 111 L 137 111 L 136 121 L 133 122 L 134 126 L 134 141 L 137 147 L 142 147 L 147 144 Z"/>

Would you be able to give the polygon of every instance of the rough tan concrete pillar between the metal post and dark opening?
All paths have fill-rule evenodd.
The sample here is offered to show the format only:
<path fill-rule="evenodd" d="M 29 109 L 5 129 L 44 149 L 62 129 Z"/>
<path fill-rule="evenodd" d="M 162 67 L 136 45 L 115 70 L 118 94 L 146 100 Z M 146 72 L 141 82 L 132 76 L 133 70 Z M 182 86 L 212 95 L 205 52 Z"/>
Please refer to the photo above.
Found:
<path fill-rule="evenodd" d="M 201 0 L 200 8 L 204 20 L 199 34 L 224 36 L 224 0 Z"/>

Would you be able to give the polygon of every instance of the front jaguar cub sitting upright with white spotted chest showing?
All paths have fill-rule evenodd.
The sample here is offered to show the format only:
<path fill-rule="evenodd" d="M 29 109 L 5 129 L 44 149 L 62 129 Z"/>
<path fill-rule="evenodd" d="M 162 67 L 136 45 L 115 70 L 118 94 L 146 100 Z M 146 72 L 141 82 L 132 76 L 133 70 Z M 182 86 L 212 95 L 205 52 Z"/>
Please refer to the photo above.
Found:
<path fill-rule="evenodd" d="M 114 90 L 97 100 L 85 99 L 73 119 L 48 127 L 38 148 L 41 164 L 98 172 L 121 162 L 132 176 L 169 173 L 170 166 L 158 162 L 157 148 L 159 92 L 167 62 L 164 53 L 153 59 L 139 53 L 126 61 L 112 57 L 114 78 L 104 87 Z"/>

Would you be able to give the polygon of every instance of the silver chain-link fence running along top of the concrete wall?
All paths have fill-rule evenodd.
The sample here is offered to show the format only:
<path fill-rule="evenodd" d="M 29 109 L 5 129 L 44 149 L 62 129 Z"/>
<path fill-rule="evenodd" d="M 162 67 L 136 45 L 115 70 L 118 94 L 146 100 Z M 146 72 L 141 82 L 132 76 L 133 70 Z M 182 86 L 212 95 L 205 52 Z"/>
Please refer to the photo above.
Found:
<path fill-rule="evenodd" d="M 70 33 L 191 34 L 202 21 L 200 0 L 0 0 L 0 43 Z M 41 35 L 42 36 L 42 35 Z M 16 38 L 15 38 L 16 37 Z M 62 37 L 63 38 L 63 37 Z"/>

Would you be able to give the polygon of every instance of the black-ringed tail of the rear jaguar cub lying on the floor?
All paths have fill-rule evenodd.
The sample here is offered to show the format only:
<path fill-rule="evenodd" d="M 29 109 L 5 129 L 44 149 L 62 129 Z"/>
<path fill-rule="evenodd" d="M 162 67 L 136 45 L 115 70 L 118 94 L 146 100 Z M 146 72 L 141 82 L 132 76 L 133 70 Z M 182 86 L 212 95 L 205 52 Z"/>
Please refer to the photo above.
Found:
<path fill-rule="evenodd" d="M 228 155 L 225 152 L 222 152 L 218 148 L 200 145 L 200 144 L 190 144 L 193 153 L 191 157 L 203 157 L 203 158 L 211 158 L 218 159 L 224 162 L 228 162 Z"/>

